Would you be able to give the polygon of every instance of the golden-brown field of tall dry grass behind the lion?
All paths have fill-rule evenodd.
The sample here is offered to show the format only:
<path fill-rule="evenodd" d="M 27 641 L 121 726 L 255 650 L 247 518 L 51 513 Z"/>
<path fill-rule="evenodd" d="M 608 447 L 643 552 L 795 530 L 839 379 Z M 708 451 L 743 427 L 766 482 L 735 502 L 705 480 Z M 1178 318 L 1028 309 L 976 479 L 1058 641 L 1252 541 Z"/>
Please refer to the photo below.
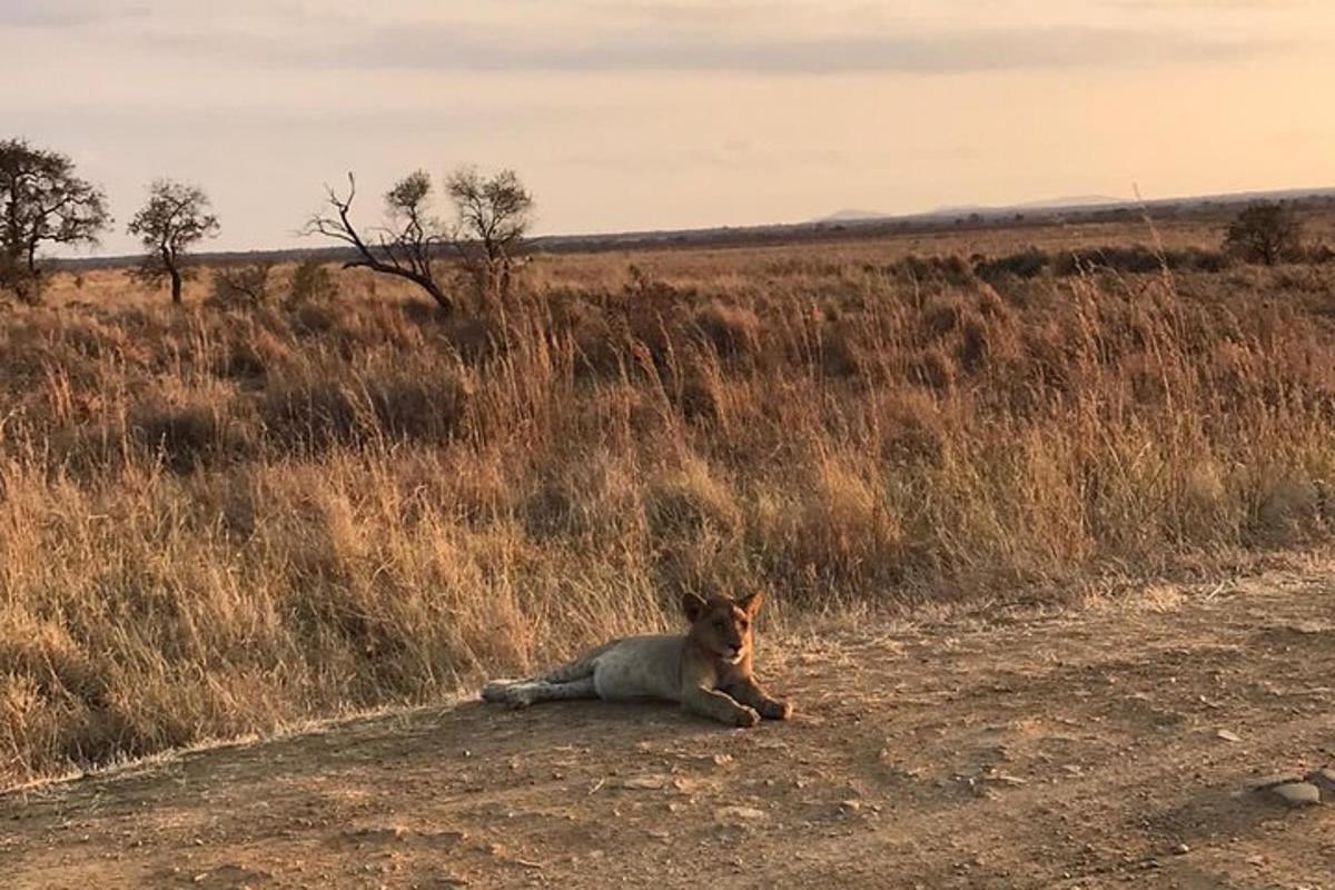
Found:
<path fill-rule="evenodd" d="M 443 701 L 684 590 L 776 628 L 1319 548 L 1335 263 L 1219 230 L 539 255 L 453 318 L 63 272 L 0 307 L 0 786 Z"/>

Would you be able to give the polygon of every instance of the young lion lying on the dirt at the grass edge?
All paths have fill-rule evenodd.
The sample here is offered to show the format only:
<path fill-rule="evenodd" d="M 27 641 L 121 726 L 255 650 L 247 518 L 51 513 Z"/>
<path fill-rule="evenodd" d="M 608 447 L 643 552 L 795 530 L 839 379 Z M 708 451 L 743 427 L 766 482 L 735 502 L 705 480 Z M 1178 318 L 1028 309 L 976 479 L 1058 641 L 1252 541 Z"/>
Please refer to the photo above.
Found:
<path fill-rule="evenodd" d="M 686 594 L 685 636 L 629 636 L 603 643 L 569 664 L 527 679 L 491 681 L 482 698 L 514 707 L 570 698 L 607 702 L 666 699 L 729 726 L 786 721 L 793 706 L 770 698 L 752 677 L 752 619 L 761 594 L 708 600 Z"/>

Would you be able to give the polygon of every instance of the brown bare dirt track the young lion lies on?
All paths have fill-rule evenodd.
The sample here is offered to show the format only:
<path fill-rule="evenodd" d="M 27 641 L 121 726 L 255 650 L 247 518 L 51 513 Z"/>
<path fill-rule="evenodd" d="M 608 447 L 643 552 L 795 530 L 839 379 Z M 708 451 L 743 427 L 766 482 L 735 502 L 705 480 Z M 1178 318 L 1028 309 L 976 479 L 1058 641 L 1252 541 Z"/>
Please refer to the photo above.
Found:
<path fill-rule="evenodd" d="M 768 646 L 766 646 L 768 643 Z M 1335 887 L 1335 570 L 761 640 L 798 717 L 453 709 L 0 797 L 0 886 Z"/>

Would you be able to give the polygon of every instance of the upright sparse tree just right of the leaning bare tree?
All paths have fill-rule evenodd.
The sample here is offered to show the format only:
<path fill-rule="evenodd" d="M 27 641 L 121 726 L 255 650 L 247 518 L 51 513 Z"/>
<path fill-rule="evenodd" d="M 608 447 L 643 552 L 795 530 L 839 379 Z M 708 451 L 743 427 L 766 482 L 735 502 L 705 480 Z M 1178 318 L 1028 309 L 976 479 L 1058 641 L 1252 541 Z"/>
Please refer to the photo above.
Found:
<path fill-rule="evenodd" d="M 459 219 L 455 247 L 479 299 L 507 296 L 515 247 L 533 221 L 533 195 L 513 169 L 483 176 L 475 167 L 450 173 L 446 191 Z"/>

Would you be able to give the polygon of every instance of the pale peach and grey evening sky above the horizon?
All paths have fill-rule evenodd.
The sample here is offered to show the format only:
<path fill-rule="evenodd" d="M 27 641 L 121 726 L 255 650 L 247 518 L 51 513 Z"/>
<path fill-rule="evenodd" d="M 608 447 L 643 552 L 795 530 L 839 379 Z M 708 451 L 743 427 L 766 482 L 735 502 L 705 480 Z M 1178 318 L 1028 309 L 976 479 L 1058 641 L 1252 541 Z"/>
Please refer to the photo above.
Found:
<path fill-rule="evenodd" d="M 541 234 L 1335 185 L 1330 0 L 0 0 L 0 139 L 116 216 L 310 246 L 414 169 L 518 171 Z"/>

